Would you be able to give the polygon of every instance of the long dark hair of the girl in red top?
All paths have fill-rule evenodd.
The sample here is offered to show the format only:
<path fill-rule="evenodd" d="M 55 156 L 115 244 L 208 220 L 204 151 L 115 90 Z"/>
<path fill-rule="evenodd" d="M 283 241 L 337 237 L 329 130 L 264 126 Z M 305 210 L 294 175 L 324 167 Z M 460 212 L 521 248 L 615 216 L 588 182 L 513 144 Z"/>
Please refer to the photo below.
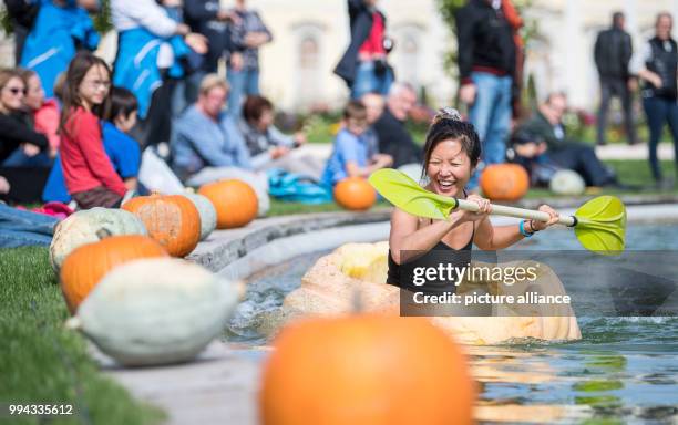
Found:
<path fill-rule="evenodd" d="M 82 106 L 82 99 L 80 97 L 80 84 L 84 80 L 85 74 L 92 66 L 100 65 L 106 70 L 107 76 L 111 76 L 111 69 L 109 64 L 101 58 L 95 56 L 90 52 L 80 52 L 73 58 L 66 70 L 65 80 L 61 90 L 61 101 L 63 106 L 61 110 L 61 120 L 59 123 L 59 131 L 63 131 L 64 126 L 72 113 L 72 110 Z M 104 97 L 104 101 L 100 105 L 92 107 L 92 113 L 101 120 L 109 120 L 111 116 L 111 96 Z"/>

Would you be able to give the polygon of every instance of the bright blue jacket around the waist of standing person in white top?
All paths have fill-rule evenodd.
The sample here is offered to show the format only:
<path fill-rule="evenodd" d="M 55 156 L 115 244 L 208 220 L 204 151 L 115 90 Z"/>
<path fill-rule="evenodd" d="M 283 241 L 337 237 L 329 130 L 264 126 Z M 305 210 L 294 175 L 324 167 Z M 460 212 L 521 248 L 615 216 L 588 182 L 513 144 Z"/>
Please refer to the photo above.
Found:
<path fill-rule="evenodd" d="M 157 53 L 162 43 L 168 42 L 174 51 L 174 64 L 168 70 L 171 77 L 182 77 L 181 59 L 191 49 L 179 35 L 168 40 L 155 35 L 144 28 L 122 31 L 119 35 L 117 58 L 113 70 L 113 84 L 130 90 L 138 101 L 138 116 L 145 118 L 151 106 L 151 96 L 163 84 L 157 68 Z"/>

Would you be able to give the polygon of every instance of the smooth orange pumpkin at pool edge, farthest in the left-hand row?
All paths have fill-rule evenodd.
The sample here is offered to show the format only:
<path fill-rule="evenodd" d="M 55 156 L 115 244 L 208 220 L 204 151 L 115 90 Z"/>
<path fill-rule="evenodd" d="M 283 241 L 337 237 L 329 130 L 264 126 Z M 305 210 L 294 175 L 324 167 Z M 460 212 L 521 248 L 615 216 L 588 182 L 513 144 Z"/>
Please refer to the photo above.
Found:
<path fill-rule="evenodd" d="M 243 227 L 257 217 L 257 193 L 243 180 L 208 183 L 199 188 L 198 194 L 214 204 L 217 210 L 217 229 Z"/>

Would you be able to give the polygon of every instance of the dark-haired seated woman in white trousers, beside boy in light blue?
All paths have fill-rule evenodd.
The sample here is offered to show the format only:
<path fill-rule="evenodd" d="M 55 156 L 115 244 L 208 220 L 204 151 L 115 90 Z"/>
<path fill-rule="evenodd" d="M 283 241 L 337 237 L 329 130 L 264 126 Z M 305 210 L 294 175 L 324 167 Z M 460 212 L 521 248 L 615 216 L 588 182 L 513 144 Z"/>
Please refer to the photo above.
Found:
<path fill-rule="evenodd" d="M 299 149 L 306 143 L 304 133 L 288 136 L 276 128 L 274 106 L 268 99 L 253 95 L 245 100 L 239 128 L 255 169 L 281 168 L 320 179 L 322 160 Z"/>

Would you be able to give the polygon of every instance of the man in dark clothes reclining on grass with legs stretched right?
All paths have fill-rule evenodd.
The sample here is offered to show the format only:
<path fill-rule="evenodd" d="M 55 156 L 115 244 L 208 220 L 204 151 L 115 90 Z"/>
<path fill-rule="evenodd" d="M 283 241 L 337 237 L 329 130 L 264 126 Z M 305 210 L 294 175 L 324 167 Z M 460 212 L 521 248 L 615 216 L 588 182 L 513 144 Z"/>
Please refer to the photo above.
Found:
<path fill-rule="evenodd" d="M 563 116 L 567 111 L 567 97 L 564 93 L 552 93 L 546 102 L 523 123 L 517 133 L 530 134 L 540 145 L 535 151 L 537 157 L 547 158 L 561 168 L 577 172 L 587 186 L 620 187 L 615 174 L 596 156 L 595 151 L 583 143 L 567 138 Z M 541 141 L 544 144 L 541 144 Z"/>

